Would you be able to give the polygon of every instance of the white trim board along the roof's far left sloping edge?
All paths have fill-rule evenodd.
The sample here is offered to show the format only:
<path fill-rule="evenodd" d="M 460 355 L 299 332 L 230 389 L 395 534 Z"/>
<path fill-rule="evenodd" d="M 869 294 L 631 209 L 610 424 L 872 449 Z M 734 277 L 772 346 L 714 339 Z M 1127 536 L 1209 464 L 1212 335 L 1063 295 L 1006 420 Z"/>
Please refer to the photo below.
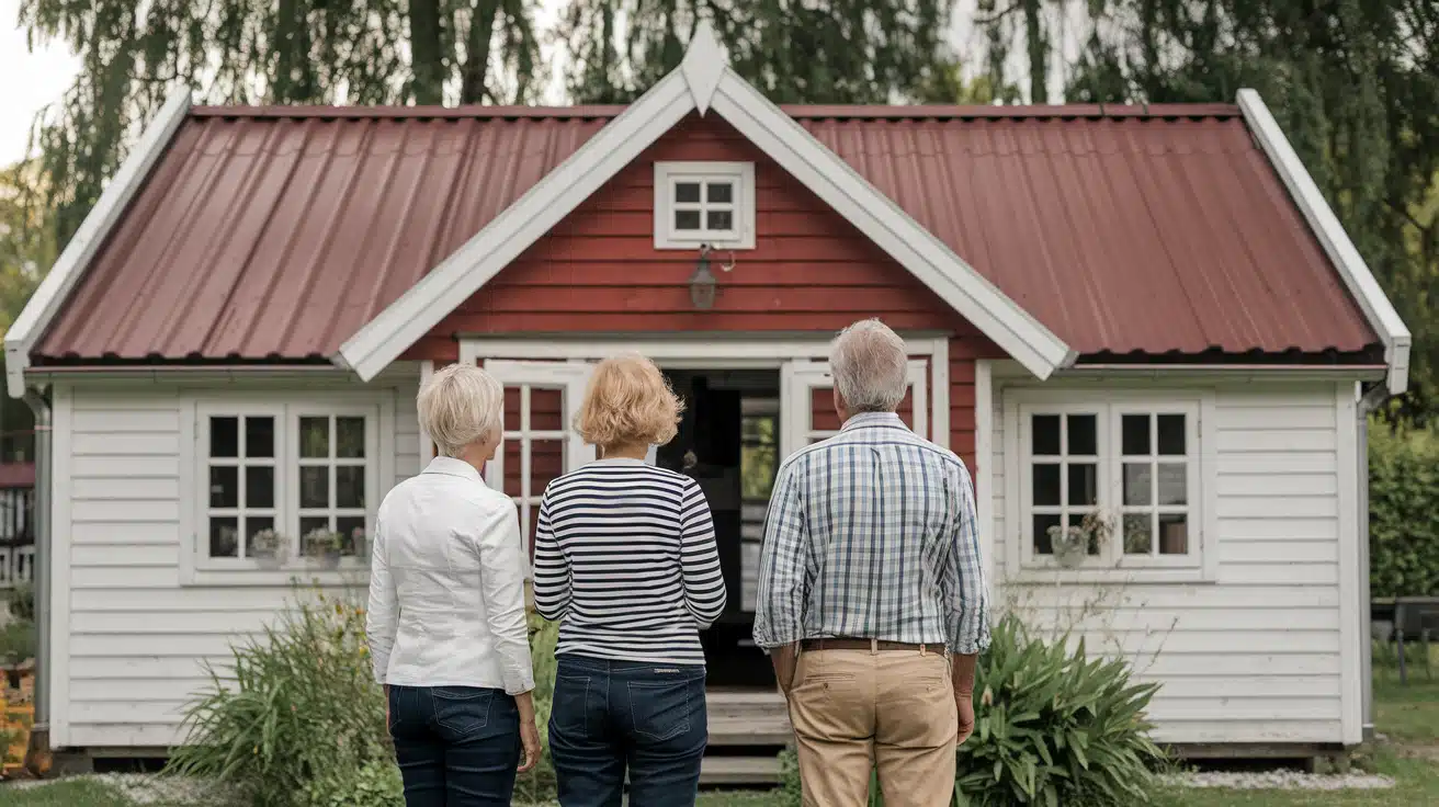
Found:
<path fill-rule="evenodd" d="M 171 92 L 140 137 L 140 142 L 135 144 L 109 184 L 105 186 L 99 201 L 75 230 L 71 242 L 65 245 L 65 252 L 60 253 L 55 266 L 40 281 L 40 286 L 30 295 L 20 316 L 10 325 L 4 335 L 6 391 L 10 393 L 10 397 L 24 396 L 24 371 L 30 367 L 30 350 L 50 327 L 50 321 L 55 319 L 81 276 L 85 275 L 91 259 L 95 257 L 111 229 L 119 222 L 119 216 L 145 184 L 145 177 L 160 161 L 160 155 L 170 145 L 170 140 L 189 111 L 190 88 Z"/>

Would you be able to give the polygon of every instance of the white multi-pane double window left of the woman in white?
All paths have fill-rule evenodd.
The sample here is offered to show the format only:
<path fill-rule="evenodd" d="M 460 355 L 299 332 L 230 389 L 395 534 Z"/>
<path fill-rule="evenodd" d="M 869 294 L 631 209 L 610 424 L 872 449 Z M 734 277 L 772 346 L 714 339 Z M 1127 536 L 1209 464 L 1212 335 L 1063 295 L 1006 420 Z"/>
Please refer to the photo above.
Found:
<path fill-rule="evenodd" d="M 199 404 L 196 557 L 216 568 L 366 552 L 377 495 L 368 407 Z"/>

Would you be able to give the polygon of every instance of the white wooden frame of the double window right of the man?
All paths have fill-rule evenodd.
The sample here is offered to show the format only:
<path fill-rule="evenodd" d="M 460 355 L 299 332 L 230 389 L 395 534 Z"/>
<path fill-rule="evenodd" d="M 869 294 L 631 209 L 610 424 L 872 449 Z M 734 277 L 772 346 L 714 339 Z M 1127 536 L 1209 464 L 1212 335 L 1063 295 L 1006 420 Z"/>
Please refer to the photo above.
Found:
<path fill-rule="evenodd" d="M 1050 555 L 1035 552 L 1033 427 L 1035 414 L 1094 414 L 1097 417 L 1098 511 L 1109 518 L 1111 534 L 1098 555 L 1078 567 L 1062 567 Z M 1184 414 L 1187 466 L 1189 551 L 1183 555 L 1125 554 L 1125 511 L 1121 456 L 1121 419 L 1125 414 Z M 1004 509 L 1007 577 L 1016 583 L 1196 583 L 1217 577 L 1217 506 L 1215 499 L 1215 446 L 1206 440 L 1206 423 L 1215 421 L 1209 390 L 1099 391 L 1004 390 Z M 1062 420 L 1065 423 L 1065 420 Z M 1153 434 L 1151 434 L 1153 437 Z M 1150 446 L 1151 452 L 1156 446 Z M 1066 452 L 1068 446 L 1061 444 Z M 1177 462 L 1177 459 L 1176 459 Z M 1068 472 L 1061 472 L 1061 506 L 1068 508 Z M 1151 482 L 1153 485 L 1153 482 Z M 1137 508 L 1135 508 L 1137 509 Z M 1157 541 L 1157 538 L 1156 538 Z"/>

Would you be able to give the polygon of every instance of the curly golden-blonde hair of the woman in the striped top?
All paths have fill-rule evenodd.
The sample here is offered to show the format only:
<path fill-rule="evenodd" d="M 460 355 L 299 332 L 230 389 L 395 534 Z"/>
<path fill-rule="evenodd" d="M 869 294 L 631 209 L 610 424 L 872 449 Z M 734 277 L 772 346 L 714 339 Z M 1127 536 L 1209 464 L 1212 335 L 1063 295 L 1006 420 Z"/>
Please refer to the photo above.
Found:
<path fill-rule="evenodd" d="M 679 430 L 684 401 L 655 363 L 639 354 L 606 358 L 594 368 L 574 429 L 599 447 L 663 446 Z"/>

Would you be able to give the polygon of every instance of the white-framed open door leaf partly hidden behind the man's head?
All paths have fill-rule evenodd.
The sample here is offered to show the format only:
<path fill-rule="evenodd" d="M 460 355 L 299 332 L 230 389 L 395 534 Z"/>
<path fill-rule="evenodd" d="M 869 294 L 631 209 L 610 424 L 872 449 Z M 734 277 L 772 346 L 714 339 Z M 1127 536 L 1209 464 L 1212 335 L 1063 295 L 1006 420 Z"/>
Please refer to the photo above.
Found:
<path fill-rule="evenodd" d="M 899 419 L 921 437 L 930 436 L 927 378 L 928 360 L 909 360 L 909 391 L 898 410 Z M 804 360 L 784 364 L 780 378 L 780 443 L 784 456 L 839 433 L 833 388 L 829 364 Z"/>

